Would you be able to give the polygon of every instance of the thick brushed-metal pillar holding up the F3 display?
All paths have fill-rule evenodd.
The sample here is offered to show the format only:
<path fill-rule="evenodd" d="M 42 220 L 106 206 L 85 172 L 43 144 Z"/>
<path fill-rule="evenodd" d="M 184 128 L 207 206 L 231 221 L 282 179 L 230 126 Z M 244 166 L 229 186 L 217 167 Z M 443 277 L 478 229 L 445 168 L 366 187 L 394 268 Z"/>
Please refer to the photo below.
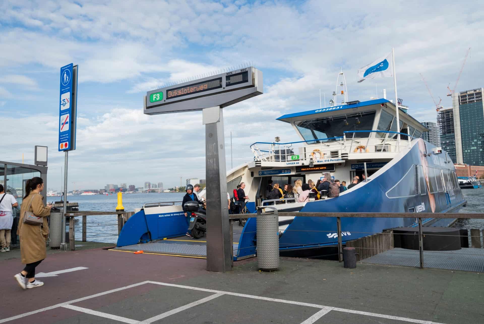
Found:
<path fill-rule="evenodd" d="M 224 117 L 221 107 L 202 110 L 205 124 L 205 172 L 207 190 L 207 270 L 232 270 L 229 235 Z"/>

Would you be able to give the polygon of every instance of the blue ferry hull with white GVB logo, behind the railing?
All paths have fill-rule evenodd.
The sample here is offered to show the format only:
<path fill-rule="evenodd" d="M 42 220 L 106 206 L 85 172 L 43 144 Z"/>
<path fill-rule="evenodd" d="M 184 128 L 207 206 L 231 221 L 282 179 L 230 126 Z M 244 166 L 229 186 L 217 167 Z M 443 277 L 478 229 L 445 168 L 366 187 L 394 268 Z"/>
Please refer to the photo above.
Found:
<path fill-rule="evenodd" d="M 423 139 L 339 197 L 305 203 L 303 212 L 354 213 L 446 213 L 457 212 L 465 203 L 455 177 L 454 164 L 428 153 Z M 278 208 L 279 209 L 279 208 Z M 279 209 L 281 212 L 284 209 Z M 455 219 L 427 218 L 424 226 L 450 226 Z M 415 226 L 416 218 L 341 218 L 343 242 L 395 227 Z M 239 242 L 237 258 L 255 253 L 256 218 L 249 218 Z M 337 244 L 336 218 L 294 217 L 279 238 L 280 250 L 308 249 Z M 252 248 L 251 248 L 252 247 Z"/>

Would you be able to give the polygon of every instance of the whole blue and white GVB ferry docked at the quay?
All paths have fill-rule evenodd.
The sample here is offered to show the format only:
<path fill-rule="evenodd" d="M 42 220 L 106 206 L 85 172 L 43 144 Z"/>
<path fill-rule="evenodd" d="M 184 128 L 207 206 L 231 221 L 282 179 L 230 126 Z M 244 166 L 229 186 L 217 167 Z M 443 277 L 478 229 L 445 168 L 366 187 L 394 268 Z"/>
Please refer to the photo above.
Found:
<path fill-rule="evenodd" d="M 277 120 L 289 123 L 298 139 L 250 145 L 253 158 L 227 172 L 227 192 L 245 183 L 246 206 L 254 213 L 268 202 L 265 188 L 269 180 L 282 187 L 296 180 L 316 183 L 330 173 L 334 180 L 349 185 L 355 176 L 363 179 L 366 173 L 363 182 L 338 197 L 305 202 L 281 199 L 271 207 L 280 212 L 436 213 L 436 217 L 425 218 L 423 225 L 451 226 L 456 219 L 439 218 L 438 214 L 457 212 L 467 203 L 454 163 L 447 152 L 420 138 L 428 131 L 423 124 L 406 109 L 395 108 L 392 101 L 374 99 L 285 114 Z M 132 224 L 122 229 L 118 247 L 186 231 L 181 206 L 147 204 L 136 211 L 132 218 L 138 220 L 128 220 L 126 225 Z M 256 220 L 248 218 L 245 223 L 234 260 L 256 255 Z M 343 243 L 385 229 L 417 225 L 417 218 L 341 219 Z M 336 219 L 280 216 L 279 236 L 281 252 L 307 255 L 308 249 L 337 244 Z"/>

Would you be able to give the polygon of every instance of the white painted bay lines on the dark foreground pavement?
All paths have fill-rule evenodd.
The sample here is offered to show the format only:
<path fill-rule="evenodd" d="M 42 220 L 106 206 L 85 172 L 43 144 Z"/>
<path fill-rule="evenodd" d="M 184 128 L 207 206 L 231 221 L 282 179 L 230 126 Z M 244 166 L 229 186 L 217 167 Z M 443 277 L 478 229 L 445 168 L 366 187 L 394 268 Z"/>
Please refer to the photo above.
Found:
<path fill-rule="evenodd" d="M 77 302 L 80 302 L 80 301 L 83 301 L 83 300 L 86 300 L 86 299 L 91 299 L 91 298 L 95 298 L 95 297 L 98 297 L 98 296 L 102 296 L 102 295 L 105 295 L 105 294 L 108 294 L 108 293 L 115 293 L 115 292 L 118 292 L 118 291 L 121 291 L 121 290 L 129 289 L 129 288 L 136 287 L 136 286 L 139 286 L 139 285 L 143 285 L 143 284 L 146 284 L 146 283 L 151 283 L 151 284 L 156 284 L 156 285 L 161 285 L 161 286 L 168 286 L 168 287 L 191 289 L 191 290 L 197 290 L 197 291 L 201 291 L 201 292 L 209 292 L 209 293 L 214 293 L 214 294 L 211 295 L 211 296 L 205 297 L 203 299 L 200 299 L 198 301 L 195 301 L 193 303 L 187 304 L 185 306 L 181 306 L 177 309 L 173 309 L 173 310 L 165 312 L 163 314 L 154 316 L 154 317 L 152 317 L 152 318 L 150 318 L 146 321 L 143 321 L 143 322 L 135 321 L 135 320 L 131 320 L 131 319 L 122 317 L 122 319 L 124 319 L 124 321 L 134 321 L 134 322 L 124 322 L 124 323 L 150 323 L 150 322 L 154 322 L 158 319 L 165 318 L 166 316 L 175 314 L 175 313 L 177 313 L 181 310 L 184 310 L 184 309 L 189 309 L 190 307 L 196 306 L 198 304 L 204 303 L 208 300 L 217 298 L 217 297 L 225 294 L 225 295 L 231 295 L 231 296 L 253 298 L 253 299 L 259 299 L 259 300 L 266 300 L 266 301 L 272 301 L 272 302 L 278 302 L 278 303 L 286 303 L 286 304 L 299 305 L 299 306 L 308 306 L 308 307 L 314 307 L 314 308 L 321 309 L 316 314 L 314 314 L 313 316 L 308 318 L 306 321 L 302 322 L 304 324 L 314 323 L 315 321 L 318 320 L 318 318 L 324 316 L 325 314 L 327 314 L 331 310 L 345 312 L 345 313 L 359 314 L 359 315 L 363 315 L 363 316 L 373 316 L 373 317 L 379 317 L 379 318 L 386 318 L 386 319 L 404 321 L 404 322 L 410 322 L 410 323 L 442 324 L 442 323 L 437 323 L 437 322 L 432 322 L 432 321 L 416 320 L 416 319 L 411 319 L 411 318 L 407 318 L 407 317 L 371 313 L 371 312 L 359 311 L 359 310 L 353 310 L 353 309 L 342 309 L 342 308 L 336 308 L 336 307 L 333 308 L 333 307 L 330 307 L 330 306 L 311 304 L 311 303 L 303 303 L 303 302 L 286 300 L 286 299 L 270 298 L 270 297 L 263 297 L 263 296 L 256 296 L 256 295 L 248 295 L 248 294 L 245 294 L 245 293 L 232 293 L 232 292 L 226 292 L 226 291 L 221 291 L 221 290 L 213 290 L 213 289 L 206 289 L 206 288 L 199 288 L 199 287 L 176 285 L 176 284 L 173 284 L 173 283 L 158 282 L 158 281 L 143 281 L 143 282 L 135 283 L 133 285 L 108 290 L 108 291 L 103 292 L 103 293 L 96 293 L 96 294 L 93 294 L 93 295 L 90 295 L 90 296 L 77 298 L 75 300 L 71 300 L 71 301 L 68 301 L 68 302 L 65 302 L 65 303 L 60 303 L 60 304 L 57 304 L 57 305 L 45 307 L 43 309 L 37 309 L 37 310 L 33 310 L 33 311 L 30 311 L 30 312 L 27 312 L 27 313 L 23 313 L 23 314 L 20 314 L 20 315 L 16 315 L 16 316 L 12 316 L 12 317 L 9 317 L 9 318 L 2 319 L 2 320 L 0 320 L 0 324 L 5 323 L 5 322 L 9 322 L 9 321 L 13 321 L 13 320 L 16 320 L 16 319 L 19 319 L 19 318 L 22 318 L 22 317 L 25 317 L 25 316 L 29 316 L 29 315 L 32 315 L 32 314 L 36 314 L 36 313 L 39 313 L 39 312 L 42 312 L 42 311 L 45 311 L 45 310 L 55 309 L 55 308 L 58 308 L 58 307 L 65 307 L 65 308 L 68 308 L 68 309 L 74 309 L 74 308 L 83 309 L 83 308 L 80 308 L 80 307 L 78 308 L 76 306 L 68 306 L 68 305 L 73 304 L 73 303 L 77 303 Z M 66 306 L 68 306 L 68 307 L 66 307 Z M 93 315 L 99 314 L 98 316 L 106 317 L 106 316 L 104 316 L 104 315 L 106 315 L 106 313 L 97 312 L 97 311 L 94 311 L 94 310 L 91 311 L 90 309 L 84 309 L 84 310 L 90 311 L 89 314 L 93 314 Z M 87 311 L 84 311 L 84 312 L 87 312 Z M 107 315 L 110 315 L 110 314 L 107 314 Z M 116 315 L 110 315 L 110 316 L 116 316 Z M 317 316 L 319 316 L 319 317 L 316 318 Z M 311 322 L 311 320 L 313 320 L 313 321 Z M 123 322 L 122 320 L 120 320 L 120 321 Z"/>

